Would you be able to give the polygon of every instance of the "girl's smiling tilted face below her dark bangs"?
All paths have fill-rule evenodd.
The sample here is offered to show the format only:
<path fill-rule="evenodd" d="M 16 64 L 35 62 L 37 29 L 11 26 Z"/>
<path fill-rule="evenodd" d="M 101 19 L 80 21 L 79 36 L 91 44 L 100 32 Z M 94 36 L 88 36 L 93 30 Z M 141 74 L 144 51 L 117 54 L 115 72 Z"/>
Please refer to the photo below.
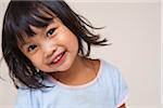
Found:
<path fill-rule="evenodd" d="M 45 72 L 66 71 L 78 53 L 76 36 L 59 18 L 45 28 L 30 28 L 36 35 L 25 38 L 21 51 Z"/>

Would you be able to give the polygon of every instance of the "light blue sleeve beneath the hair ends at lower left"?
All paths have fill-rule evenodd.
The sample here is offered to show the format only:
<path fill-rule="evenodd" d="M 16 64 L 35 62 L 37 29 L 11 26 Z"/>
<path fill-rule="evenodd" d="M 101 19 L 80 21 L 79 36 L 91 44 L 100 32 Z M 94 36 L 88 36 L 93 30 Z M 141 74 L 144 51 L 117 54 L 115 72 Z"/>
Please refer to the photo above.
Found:
<path fill-rule="evenodd" d="M 18 89 L 14 108 L 37 108 L 33 97 L 32 91 Z"/>

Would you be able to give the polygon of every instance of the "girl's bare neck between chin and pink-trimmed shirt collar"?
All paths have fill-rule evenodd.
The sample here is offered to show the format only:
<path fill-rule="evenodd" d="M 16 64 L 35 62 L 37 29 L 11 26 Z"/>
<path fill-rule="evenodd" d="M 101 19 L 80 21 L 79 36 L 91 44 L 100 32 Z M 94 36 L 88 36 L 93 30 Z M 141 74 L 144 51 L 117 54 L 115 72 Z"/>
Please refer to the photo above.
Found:
<path fill-rule="evenodd" d="M 77 56 L 68 70 L 54 72 L 52 77 L 65 84 L 76 85 L 92 80 L 96 77 L 95 71 L 93 64 L 90 59 Z"/>

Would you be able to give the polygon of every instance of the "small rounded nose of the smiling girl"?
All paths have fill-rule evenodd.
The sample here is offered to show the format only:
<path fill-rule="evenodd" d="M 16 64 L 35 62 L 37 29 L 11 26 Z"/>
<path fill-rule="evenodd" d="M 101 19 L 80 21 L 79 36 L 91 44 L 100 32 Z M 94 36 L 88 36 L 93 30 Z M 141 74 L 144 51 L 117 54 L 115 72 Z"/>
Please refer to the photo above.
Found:
<path fill-rule="evenodd" d="M 43 56 L 50 57 L 57 51 L 57 45 L 50 41 L 47 41 L 43 43 L 42 49 L 43 49 Z"/>

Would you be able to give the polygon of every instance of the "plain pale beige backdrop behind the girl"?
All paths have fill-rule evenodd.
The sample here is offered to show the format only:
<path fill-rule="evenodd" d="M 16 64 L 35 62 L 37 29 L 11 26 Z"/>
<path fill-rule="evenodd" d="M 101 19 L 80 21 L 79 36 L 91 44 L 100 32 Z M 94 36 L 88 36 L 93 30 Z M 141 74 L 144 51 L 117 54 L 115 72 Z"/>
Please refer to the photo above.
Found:
<path fill-rule="evenodd" d="M 161 108 L 159 0 L 74 1 L 68 0 L 68 4 L 93 26 L 105 27 L 95 32 L 108 38 L 112 45 L 93 48 L 91 56 L 105 59 L 122 70 L 129 87 L 128 108 Z M 0 35 L 8 2 L 0 0 Z M 5 80 L 0 80 L 0 108 L 13 108 L 16 90 L 4 62 L 0 64 L 0 77 Z"/>

